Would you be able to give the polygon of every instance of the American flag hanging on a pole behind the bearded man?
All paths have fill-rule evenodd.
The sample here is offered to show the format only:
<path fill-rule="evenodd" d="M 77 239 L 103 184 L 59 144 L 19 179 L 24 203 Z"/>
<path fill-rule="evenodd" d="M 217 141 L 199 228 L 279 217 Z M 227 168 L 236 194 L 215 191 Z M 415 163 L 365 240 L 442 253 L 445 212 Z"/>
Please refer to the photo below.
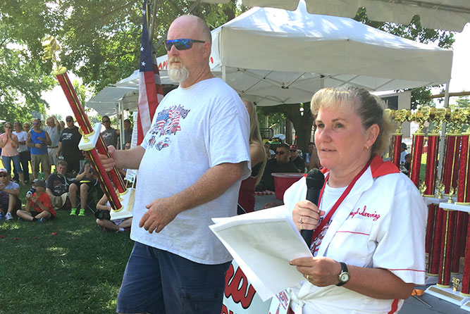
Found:
<path fill-rule="evenodd" d="M 150 128 L 156 107 L 163 99 L 159 68 L 156 58 L 151 53 L 149 41 L 149 20 L 151 0 L 144 0 L 142 6 L 142 46 L 140 47 L 140 77 L 139 77 L 139 115 L 137 116 L 137 145 L 142 143 Z"/>

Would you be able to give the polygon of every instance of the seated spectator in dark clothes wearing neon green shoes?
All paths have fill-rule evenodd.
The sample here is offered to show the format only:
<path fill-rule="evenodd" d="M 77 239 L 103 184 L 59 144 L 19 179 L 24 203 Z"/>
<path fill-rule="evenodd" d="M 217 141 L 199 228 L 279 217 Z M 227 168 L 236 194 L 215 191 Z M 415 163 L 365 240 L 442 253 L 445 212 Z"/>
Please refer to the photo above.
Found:
<path fill-rule="evenodd" d="M 77 184 L 80 182 L 80 211 L 79 216 L 85 216 L 85 206 L 87 205 L 88 193 L 91 189 L 96 189 L 99 187 L 99 181 L 97 175 L 94 174 L 94 171 L 89 164 L 89 161 L 85 161 L 85 164 L 80 168 L 80 172 L 76 177 Z M 70 210 L 70 215 L 77 215 L 77 185 L 70 184 L 68 189 L 68 197 L 70 203 L 72 204 L 72 209 Z"/>

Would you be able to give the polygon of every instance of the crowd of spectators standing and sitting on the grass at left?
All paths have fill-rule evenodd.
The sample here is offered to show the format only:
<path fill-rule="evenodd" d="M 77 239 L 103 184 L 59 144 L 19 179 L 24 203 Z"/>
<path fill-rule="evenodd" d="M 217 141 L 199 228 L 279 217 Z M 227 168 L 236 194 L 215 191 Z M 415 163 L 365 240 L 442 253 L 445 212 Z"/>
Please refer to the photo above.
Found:
<path fill-rule="evenodd" d="M 73 117 L 67 116 L 63 123 L 52 115 L 46 124 L 43 128 L 41 120 L 35 118 L 32 129 L 29 122 L 3 125 L 4 132 L 0 132 L 0 220 L 9 222 L 16 216 L 23 221 L 47 222 L 60 211 L 85 216 L 87 206 L 95 215 L 95 208 L 106 207 L 98 201 L 103 191 L 97 175 L 78 148 L 82 135 Z M 109 127 L 109 123 L 106 125 Z M 127 142 L 123 149 L 130 149 L 132 127 L 128 119 L 124 134 Z M 125 176 L 125 170 L 120 173 Z M 29 188 L 27 193 L 21 194 L 20 184 Z M 100 224 L 108 226 L 107 230 L 122 231 L 129 229 L 129 221 L 132 220 L 109 221 L 117 229 L 102 220 Z"/>

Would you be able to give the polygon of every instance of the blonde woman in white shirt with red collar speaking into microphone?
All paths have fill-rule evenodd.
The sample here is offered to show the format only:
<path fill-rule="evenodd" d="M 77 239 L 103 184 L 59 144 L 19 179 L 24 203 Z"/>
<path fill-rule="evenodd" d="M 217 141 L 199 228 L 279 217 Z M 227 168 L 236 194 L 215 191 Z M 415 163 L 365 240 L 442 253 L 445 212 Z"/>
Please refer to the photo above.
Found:
<path fill-rule="evenodd" d="M 314 258 L 290 263 L 306 280 L 289 289 L 295 314 L 397 313 L 424 284 L 426 205 L 380 157 L 392 124 L 378 97 L 357 87 L 321 89 L 311 101 L 325 183 L 319 206 L 305 178 L 285 192 L 297 229 L 314 230 Z"/>

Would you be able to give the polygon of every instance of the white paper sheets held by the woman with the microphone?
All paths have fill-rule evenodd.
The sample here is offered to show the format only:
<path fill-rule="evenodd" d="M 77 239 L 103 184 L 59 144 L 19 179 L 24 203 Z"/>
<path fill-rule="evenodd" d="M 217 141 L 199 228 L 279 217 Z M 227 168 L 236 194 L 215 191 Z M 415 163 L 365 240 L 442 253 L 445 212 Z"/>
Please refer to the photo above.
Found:
<path fill-rule="evenodd" d="M 285 206 L 230 218 L 213 218 L 209 226 L 240 265 L 263 301 L 304 280 L 290 260 L 311 252 Z"/>

